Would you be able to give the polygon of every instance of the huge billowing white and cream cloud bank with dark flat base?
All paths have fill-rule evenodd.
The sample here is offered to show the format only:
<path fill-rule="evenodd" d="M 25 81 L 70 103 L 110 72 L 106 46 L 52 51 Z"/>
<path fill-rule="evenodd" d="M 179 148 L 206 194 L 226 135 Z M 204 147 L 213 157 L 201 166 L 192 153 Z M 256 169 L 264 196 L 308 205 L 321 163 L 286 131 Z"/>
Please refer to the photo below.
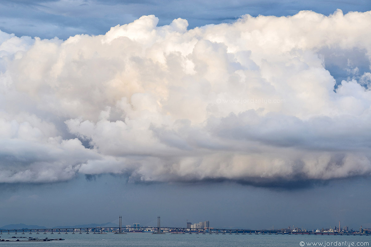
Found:
<path fill-rule="evenodd" d="M 371 11 L 0 32 L 0 183 L 257 186 L 371 173 Z"/>

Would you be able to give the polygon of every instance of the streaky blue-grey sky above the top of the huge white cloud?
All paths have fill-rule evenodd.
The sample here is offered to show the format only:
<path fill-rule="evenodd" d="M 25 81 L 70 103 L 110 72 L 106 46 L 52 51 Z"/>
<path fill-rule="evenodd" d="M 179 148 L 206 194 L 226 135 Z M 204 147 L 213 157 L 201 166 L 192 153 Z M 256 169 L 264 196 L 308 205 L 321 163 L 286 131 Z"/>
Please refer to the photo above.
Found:
<path fill-rule="evenodd" d="M 188 21 L 188 28 L 232 23 L 244 14 L 291 16 L 301 10 L 325 15 L 336 9 L 369 11 L 368 0 L 1 0 L 0 30 L 20 37 L 67 39 L 76 34 L 105 34 L 118 24 L 154 14 L 158 26 L 174 19 Z"/>

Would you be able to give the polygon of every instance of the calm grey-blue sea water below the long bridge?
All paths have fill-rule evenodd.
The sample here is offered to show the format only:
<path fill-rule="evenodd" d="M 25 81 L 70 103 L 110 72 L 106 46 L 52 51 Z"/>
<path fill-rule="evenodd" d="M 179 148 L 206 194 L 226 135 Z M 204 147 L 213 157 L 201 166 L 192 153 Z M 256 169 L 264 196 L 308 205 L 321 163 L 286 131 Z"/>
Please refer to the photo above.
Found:
<path fill-rule="evenodd" d="M 51 242 L 0 242 L 1 246 L 43 246 L 43 247 L 300 247 L 308 243 L 322 243 L 322 246 L 370 246 L 371 236 L 314 236 L 314 235 L 243 235 L 243 234 L 2 234 L 0 239 L 10 237 L 64 238 Z M 14 239 L 14 238 L 13 238 Z M 302 242 L 302 243 L 301 243 Z M 336 243 L 336 244 L 335 244 Z M 339 244 L 340 243 L 340 244 Z M 342 244 L 341 244 L 342 243 Z M 350 245 L 349 245 L 350 244 Z M 318 246 L 318 244 L 317 244 Z"/>

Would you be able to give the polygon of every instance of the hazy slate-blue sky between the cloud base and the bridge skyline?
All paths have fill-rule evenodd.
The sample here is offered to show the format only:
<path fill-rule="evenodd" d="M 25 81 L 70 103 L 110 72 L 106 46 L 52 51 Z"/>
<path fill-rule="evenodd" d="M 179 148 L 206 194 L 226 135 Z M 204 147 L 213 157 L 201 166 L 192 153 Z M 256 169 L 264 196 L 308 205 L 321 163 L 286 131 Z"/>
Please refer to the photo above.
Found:
<path fill-rule="evenodd" d="M 160 215 L 162 226 L 175 227 L 185 227 L 187 220 L 209 220 L 215 228 L 317 229 L 337 227 L 339 220 L 349 229 L 371 227 L 365 217 L 364 195 L 371 187 L 367 178 L 294 190 L 230 182 L 132 184 L 122 179 L 107 174 L 90 181 L 80 176 L 56 184 L 8 185 L 5 191 L 13 191 L 14 196 L 5 200 L 7 207 L 3 203 L 1 210 L 13 213 L 3 215 L 0 225 L 99 224 L 115 221 L 119 215 L 123 225 L 145 225 Z"/>

